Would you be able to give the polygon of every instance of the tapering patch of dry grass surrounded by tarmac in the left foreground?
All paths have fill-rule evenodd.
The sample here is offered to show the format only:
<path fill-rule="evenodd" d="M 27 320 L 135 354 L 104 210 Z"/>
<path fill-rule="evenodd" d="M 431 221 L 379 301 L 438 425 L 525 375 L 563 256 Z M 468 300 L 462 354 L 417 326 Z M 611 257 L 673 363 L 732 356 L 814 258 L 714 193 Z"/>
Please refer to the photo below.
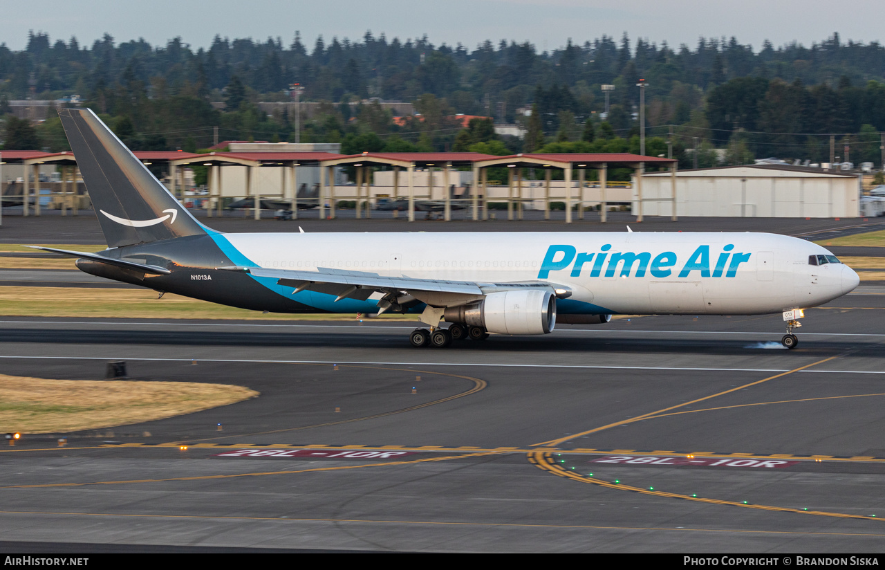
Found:
<path fill-rule="evenodd" d="M 0 431 L 45 434 L 109 428 L 257 396 L 255 390 L 224 384 L 45 380 L 0 374 Z"/>

